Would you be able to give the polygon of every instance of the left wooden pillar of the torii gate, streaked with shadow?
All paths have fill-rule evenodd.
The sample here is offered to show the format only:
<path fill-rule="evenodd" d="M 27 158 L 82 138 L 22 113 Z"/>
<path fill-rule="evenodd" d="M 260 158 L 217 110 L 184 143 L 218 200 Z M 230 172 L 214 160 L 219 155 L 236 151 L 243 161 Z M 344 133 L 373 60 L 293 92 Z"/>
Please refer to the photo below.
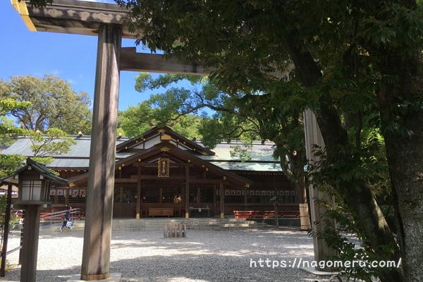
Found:
<path fill-rule="evenodd" d="M 121 27 L 99 27 L 82 280 L 109 278 Z"/>

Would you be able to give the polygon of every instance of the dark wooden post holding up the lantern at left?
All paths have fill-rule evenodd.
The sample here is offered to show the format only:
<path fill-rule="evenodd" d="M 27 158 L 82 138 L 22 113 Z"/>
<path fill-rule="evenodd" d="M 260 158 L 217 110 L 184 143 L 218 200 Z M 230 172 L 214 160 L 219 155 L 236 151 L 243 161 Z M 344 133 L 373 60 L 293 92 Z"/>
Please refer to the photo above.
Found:
<path fill-rule="evenodd" d="M 37 275 L 37 252 L 39 234 L 39 205 L 25 209 L 25 230 L 23 231 L 22 267 L 20 282 L 35 282 Z"/>

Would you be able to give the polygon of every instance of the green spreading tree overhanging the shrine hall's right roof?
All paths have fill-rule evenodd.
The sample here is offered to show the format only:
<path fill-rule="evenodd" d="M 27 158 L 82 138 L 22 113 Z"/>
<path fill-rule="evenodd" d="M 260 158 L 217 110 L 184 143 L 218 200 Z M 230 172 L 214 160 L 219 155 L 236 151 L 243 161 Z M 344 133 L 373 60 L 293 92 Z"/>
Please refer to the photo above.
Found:
<path fill-rule="evenodd" d="M 191 84 L 190 89 L 174 85 L 184 80 Z M 252 140 L 275 142 L 274 157 L 280 161 L 291 187 L 298 192 L 300 203 L 307 202 L 304 125 L 299 111 L 274 109 L 271 95 L 259 95 L 250 101 L 243 92 L 227 94 L 208 78 L 199 76 L 161 75 L 152 79 L 148 73 L 140 73 L 135 85 L 140 92 L 170 87 L 152 95 L 147 103 L 156 107 L 155 114 L 164 122 L 201 114 L 199 133 L 202 144 L 210 149 L 223 140 L 244 140 L 246 145 Z M 207 114 L 206 109 L 213 114 Z M 247 149 L 247 146 L 234 147 L 233 154 L 248 159 Z"/>

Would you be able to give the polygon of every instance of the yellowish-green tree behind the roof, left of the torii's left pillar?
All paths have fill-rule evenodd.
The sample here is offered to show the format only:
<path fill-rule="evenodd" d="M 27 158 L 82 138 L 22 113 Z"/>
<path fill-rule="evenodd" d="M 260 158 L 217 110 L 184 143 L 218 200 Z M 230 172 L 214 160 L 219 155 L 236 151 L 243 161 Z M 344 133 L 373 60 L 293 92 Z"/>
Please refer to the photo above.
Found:
<path fill-rule="evenodd" d="M 86 92 L 75 92 L 59 77 L 12 76 L 9 81 L 0 81 L 0 97 L 32 103 L 27 109 L 11 111 L 22 128 L 42 132 L 59 128 L 69 134 L 90 134 L 90 98 Z"/>

